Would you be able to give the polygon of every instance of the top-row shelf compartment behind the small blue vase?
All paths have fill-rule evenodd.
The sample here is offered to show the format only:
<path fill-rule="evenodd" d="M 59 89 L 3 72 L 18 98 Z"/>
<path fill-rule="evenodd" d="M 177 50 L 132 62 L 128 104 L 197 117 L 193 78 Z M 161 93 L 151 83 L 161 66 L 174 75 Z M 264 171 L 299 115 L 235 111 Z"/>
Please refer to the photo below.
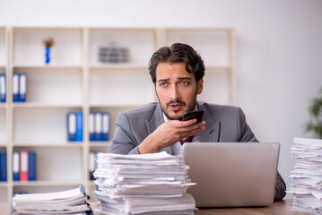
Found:
<path fill-rule="evenodd" d="M 51 66 L 82 64 L 82 28 L 13 28 L 13 65 L 44 66 L 45 39 L 54 39 L 50 48 Z M 30 55 L 32 54 L 32 55 Z"/>

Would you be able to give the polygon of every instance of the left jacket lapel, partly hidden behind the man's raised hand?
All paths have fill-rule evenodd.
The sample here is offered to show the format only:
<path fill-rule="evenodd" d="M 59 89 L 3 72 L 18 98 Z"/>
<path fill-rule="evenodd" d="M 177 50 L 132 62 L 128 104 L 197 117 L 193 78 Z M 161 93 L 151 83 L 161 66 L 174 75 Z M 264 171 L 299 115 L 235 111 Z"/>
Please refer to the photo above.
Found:
<path fill-rule="evenodd" d="M 158 104 L 157 107 L 155 107 L 151 120 L 145 121 L 149 135 L 153 133 L 162 123 L 164 123 L 164 119 L 160 104 Z M 163 148 L 161 151 L 166 151 L 168 154 L 173 155 L 173 151 L 170 146 Z"/>

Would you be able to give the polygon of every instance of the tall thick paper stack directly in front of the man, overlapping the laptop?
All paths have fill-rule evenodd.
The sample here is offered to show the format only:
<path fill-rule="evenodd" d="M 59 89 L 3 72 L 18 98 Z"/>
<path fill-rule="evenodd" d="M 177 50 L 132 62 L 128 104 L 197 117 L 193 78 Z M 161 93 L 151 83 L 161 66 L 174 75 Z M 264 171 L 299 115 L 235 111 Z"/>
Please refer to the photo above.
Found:
<path fill-rule="evenodd" d="M 100 153 L 94 172 L 103 214 L 190 215 L 196 210 L 187 193 L 191 183 L 182 156 Z"/>

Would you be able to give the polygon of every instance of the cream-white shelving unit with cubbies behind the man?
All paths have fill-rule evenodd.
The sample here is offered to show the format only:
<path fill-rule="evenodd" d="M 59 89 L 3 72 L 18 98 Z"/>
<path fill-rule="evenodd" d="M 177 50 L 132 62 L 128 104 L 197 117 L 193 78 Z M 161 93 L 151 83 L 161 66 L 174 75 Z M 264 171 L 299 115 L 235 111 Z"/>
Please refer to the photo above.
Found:
<path fill-rule="evenodd" d="M 45 64 L 43 41 L 49 38 L 55 45 L 50 64 Z M 190 44 L 205 60 L 205 89 L 199 99 L 234 104 L 231 29 L 0 28 L 0 73 L 7 74 L 8 92 L 6 104 L 0 104 L 0 150 L 7 150 L 8 157 L 0 202 L 10 201 L 13 193 L 77 185 L 84 185 L 94 200 L 89 153 L 107 151 L 110 142 L 89 141 L 89 113 L 109 112 L 111 139 L 120 112 L 157 100 L 148 62 L 158 47 L 174 42 Z M 100 63 L 99 48 L 110 45 L 127 47 L 128 63 Z M 12 101 L 13 73 L 28 75 L 25 103 Z M 66 115 L 72 111 L 83 112 L 83 142 L 67 142 Z M 13 182 L 13 150 L 36 151 L 37 181 Z"/>

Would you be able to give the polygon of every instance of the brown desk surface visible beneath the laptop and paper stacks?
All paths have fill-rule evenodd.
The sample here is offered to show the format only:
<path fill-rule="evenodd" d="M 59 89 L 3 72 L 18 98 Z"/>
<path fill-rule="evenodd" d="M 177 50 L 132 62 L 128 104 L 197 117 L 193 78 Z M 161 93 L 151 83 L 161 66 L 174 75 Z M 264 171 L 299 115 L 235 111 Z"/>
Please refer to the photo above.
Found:
<path fill-rule="evenodd" d="M 97 204 L 92 203 L 92 207 L 97 206 Z M 292 200 L 285 200 L 274 202 L 268 207 L 258 207 L 258 208 L 217 208 L 217 209 L 201 209 L 195 211 L 195 215 L 217 215 L 217 214 L 230 214 L 230 215 L 306 215 L 306 213 L 300 213 L 297 211 L 291 211 Z M 9 203 L 0 203 L 0 214 L 11 214 Z M 98 212 L 94 212 L 95 215 L 100 215 Z"/>

